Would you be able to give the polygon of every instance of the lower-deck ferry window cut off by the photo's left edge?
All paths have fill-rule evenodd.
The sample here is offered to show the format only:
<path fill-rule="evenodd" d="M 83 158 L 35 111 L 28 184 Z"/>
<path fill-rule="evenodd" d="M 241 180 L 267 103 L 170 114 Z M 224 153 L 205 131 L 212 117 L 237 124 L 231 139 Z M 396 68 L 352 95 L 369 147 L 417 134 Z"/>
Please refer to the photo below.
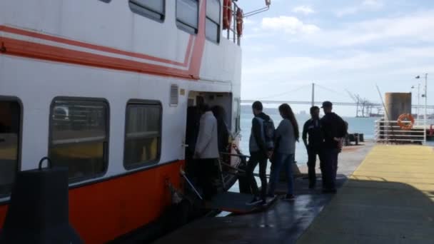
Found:
<path fill-rule="evenodd" d="M 17 101 L 0 101 L 0 197 L 11 193 L 19 168 L 21 106 Z"/>

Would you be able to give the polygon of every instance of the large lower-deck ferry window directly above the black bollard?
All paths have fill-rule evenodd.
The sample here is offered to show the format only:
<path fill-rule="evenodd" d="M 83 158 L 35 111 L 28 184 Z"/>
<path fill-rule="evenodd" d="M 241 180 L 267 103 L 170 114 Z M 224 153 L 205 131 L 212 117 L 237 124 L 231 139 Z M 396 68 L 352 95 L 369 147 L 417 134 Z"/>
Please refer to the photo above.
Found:
<path fill-rule="evenodd" d="M 68 167 L 71 182 L 101 176 L 108 166 L 109 105 L 82 98 L 51 104 L 49 157 Z"/>

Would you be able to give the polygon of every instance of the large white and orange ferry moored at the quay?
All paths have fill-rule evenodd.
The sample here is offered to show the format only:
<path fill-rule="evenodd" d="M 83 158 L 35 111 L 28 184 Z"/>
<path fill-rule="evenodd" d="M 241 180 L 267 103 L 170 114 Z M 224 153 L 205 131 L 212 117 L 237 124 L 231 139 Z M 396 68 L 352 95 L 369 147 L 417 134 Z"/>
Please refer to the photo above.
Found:
<path fill-rule="evenodd" d="M 44 156 L 69 168 L 85 243 L 161 218 L 171 188 L 189 187 L 199 97 L 224 108 L 238 144 L 242 17 L 226 0 L 0 1 L 0 228 L 16 172 Z"/>

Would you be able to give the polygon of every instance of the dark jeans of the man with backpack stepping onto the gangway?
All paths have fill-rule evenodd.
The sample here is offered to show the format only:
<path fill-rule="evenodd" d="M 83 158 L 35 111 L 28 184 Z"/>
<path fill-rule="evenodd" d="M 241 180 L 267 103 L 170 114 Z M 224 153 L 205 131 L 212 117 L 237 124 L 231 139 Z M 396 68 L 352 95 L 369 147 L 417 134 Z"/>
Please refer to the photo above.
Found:
<path fill-rule="evenodd" d="M 268 158 L 261 152 L 251 152 L 251 156 L 247 163 L 246 175 L 250 181 L 250 186 L 253 195 L 259 196 L 258 184 L 256 183 L 255 176 L 253 176 L 253 171 L 259 164 L 259 178 L 261 178 L 261 198 L 266 199 L 267 193 L 267 161 Z"/>

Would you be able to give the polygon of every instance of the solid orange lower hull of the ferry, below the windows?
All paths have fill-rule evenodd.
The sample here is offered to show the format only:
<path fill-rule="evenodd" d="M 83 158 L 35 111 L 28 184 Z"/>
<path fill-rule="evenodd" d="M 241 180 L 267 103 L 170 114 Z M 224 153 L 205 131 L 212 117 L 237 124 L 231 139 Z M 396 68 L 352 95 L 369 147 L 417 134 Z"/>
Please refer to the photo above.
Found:
<path fill-rule="evenodd" d="M 168 205 L 166 181 L 182 189 L 179 168 L 169 163 L 69 190 L 69 221 L 85 243 L 106 243 L 156 220 Z M 0 226 L 7 205 L 0 206 Z M 0 227 L 1 228 L 1 227 Z"/>

